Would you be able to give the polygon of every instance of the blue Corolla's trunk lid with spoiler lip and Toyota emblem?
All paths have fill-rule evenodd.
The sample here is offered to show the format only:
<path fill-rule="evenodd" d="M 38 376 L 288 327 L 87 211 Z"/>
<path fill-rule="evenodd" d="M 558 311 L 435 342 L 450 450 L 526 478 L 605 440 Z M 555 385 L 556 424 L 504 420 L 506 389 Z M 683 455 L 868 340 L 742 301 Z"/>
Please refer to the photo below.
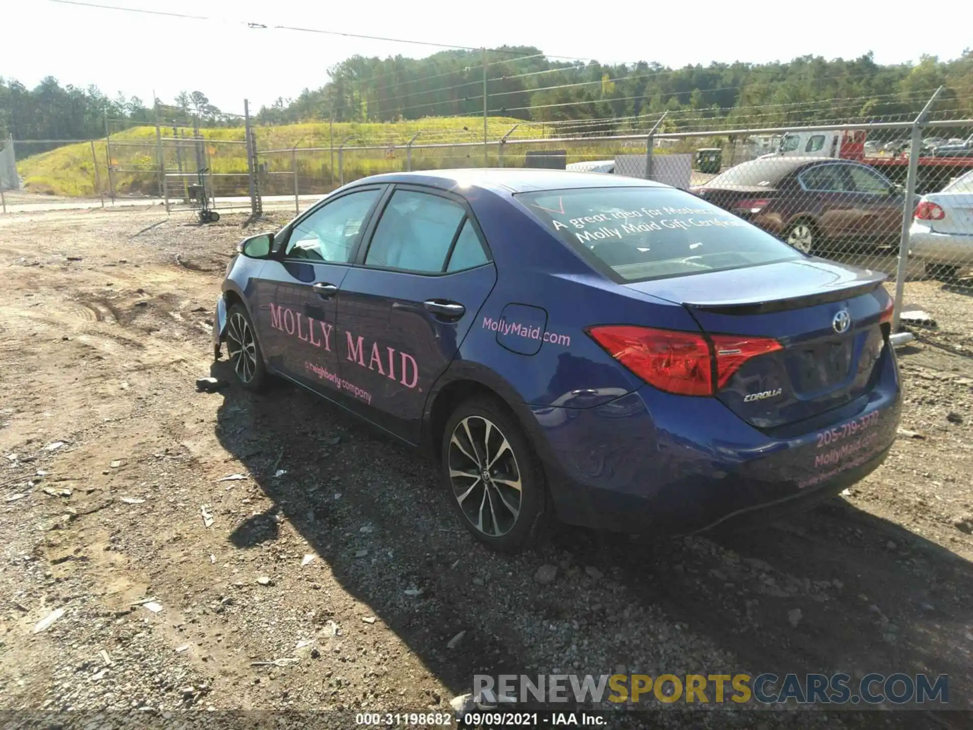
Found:
<path fill-rule="evenodd" d="M 716 394 L 751 425 L 775 428 L 843 406 L 874 386 L 885 349 L 884 278 L 809 258 L 627 286 L 683 305 L 707 334 L 780 343 L 743 362 Z"/>

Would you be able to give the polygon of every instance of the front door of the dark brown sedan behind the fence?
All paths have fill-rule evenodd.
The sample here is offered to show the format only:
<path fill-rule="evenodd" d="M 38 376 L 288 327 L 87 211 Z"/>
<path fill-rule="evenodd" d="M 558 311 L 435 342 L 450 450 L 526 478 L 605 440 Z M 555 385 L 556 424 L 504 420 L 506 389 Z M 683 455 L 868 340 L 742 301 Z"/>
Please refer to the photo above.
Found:
<path fill-rule="evenodd" d="M 892 181 L 864 164 L 842 164 L 848 177 L 853 215 L 847 236 L 866 243 L 887 244 L 902 234 L 904 196 Z"/>

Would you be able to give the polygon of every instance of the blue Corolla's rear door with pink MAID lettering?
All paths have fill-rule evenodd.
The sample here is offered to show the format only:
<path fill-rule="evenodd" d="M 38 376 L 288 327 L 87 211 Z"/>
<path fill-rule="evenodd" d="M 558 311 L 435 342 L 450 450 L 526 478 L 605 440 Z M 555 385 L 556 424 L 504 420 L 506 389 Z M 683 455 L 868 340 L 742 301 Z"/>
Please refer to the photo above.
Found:
<path fill-rule="evenodd" d="M 426 395 L 496 271 L 469 206 L 449 193 L 396 186 L 369 229 L 339 293 L 342 380 L 363 416 L 417 443 Z"/>

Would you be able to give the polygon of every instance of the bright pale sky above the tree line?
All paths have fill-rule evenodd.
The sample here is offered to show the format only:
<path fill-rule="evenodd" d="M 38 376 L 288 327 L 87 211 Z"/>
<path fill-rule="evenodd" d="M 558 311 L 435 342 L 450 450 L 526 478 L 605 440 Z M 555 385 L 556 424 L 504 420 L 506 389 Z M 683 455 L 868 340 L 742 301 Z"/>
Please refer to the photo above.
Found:
<path fill-rule="evenodd" d="M 973 3 L 932 6 L 928 22 L 885 0 L 856 3 L 472 3 L 427 0 L 91 0 L 211 20 L 160 18 L 20 0 L 2 14 L 0 74 L 33 86 L 51 75 L 62 85 L 96 84 L 151 103 L 182 90 L 203 91 L 224 111 L 241 113 L 277 96 L 296 96 L 328 80 L 329 66 L 349 55 L 435 53 L 434 47 L 249 28 L 247 22 L 408 38 L 470 47 L 533 45 L 551 55 L 601 62 L 712 60 L 761 62 L 797 55 L 855 57 L 881 63 L 953 58 L 973 45 Z M 747 8 L 751 9 L 747 9 Z M 949 21 L 943 14 L 949 17 Z M 919 30 L 914 28 L 919 27 Z M 22 29 L 22 32 L 20 30 Z"/>

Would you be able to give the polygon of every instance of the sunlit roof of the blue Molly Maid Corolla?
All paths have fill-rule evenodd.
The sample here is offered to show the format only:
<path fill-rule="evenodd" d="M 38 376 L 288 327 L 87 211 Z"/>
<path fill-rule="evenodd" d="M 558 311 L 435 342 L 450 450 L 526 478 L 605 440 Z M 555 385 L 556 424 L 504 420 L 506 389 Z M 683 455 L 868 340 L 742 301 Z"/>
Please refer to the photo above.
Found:
<path fill-rule="evenodd" d="M 413 183 L 443 190 L 482 188 L 493 192 L 529 193 L 568 188 L 667 188 L 668 185 L 637 177 L 612 176 L 598 172 L 538 169 L 534 167 L 469 167 L 461 169 L 389 172 L 355 181 L 368 183 Z"/>

